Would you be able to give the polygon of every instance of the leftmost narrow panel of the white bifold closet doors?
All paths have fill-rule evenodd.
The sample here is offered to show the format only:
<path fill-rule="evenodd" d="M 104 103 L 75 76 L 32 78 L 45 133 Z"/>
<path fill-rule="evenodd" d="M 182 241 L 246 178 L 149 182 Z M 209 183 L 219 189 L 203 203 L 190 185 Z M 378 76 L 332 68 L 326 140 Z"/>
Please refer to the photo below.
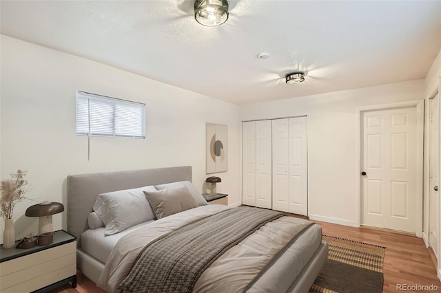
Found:
<path fill-rule="evenodd" d="M 242 123 L 242 203 L 256 205 L 256 122 Z"/>

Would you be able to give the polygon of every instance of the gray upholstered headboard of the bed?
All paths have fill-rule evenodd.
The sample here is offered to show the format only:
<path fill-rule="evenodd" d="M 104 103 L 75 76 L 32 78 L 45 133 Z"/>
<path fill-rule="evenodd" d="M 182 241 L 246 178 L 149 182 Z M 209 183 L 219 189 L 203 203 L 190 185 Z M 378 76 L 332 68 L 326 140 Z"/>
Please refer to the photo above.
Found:
<path fill-rule="evenodd" d="M 176 181 L 192 181 L 192 167 L 96 173 L 68 176 L 68 232 L 81 247 L 81 233 L 88 230 L 88 215 L 100 193 L 121 191 Z"/>

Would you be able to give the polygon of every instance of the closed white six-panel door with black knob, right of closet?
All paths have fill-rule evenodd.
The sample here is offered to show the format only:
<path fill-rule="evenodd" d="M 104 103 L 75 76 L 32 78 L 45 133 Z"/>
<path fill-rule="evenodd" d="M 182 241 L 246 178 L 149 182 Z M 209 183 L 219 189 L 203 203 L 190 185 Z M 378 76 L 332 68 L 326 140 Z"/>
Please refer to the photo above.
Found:
<path fill-rule="evenodd" d="M 362 112 L 362 224 L 416 232 L 416 107 Z"/>

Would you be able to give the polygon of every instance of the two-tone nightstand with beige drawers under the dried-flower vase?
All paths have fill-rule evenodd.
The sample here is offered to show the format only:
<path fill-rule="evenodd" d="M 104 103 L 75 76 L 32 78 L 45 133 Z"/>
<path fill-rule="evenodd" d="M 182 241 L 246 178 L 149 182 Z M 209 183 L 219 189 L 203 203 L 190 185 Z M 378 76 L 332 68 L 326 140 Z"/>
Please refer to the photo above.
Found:
<path fill-rule="evenodd" d="M 76 287 L 76 237 L 68 232 L 55 231 L 48 246 L 0 246 L 0 292 L 47 292 L 65 283 Z"/>

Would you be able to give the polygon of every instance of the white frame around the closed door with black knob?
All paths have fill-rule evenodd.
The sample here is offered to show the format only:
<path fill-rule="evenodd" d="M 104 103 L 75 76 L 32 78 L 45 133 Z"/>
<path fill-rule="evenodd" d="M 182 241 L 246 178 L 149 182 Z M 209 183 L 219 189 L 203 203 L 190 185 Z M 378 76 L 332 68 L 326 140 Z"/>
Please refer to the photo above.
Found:
<path fill-rule="evenodd" d="M 415 107 L 416 108 L 416 136 L 417 136 L 417 145 L 416 151 L 418 153 L 418 158 L 416 162 L 417 166 L 417 178 L 416 178 L 416 190 L 420 191 L 417 194 L 416 199 L 416 236 L 422 237 L 422 199 L 423 199 L 423 147 L 424 147 L 424 100 L 409 100 L 406 102 L 394 102 L 389 104 L 381 104 L 381 105 L 372 105 L 367 107 L 360 107 L 356 109 L 356 115 L 358 123 L 356 129 L 356 146 L 357 146 L 357 158 L 356 158 L 356 195 L 357 195 L 357 217 L 356 217 L 356 225 L 358 227 L 361 226 L 361 217 L 362 217 L 362 192 L 361 192 L 361 177 L 360 172 L 362 165 L 362 113 L 365 111 L 376 111 L 376 110 L 386 110 L 386 109 L 399 109 L 399 108 L 407 108 L 407 107 Z"/>

